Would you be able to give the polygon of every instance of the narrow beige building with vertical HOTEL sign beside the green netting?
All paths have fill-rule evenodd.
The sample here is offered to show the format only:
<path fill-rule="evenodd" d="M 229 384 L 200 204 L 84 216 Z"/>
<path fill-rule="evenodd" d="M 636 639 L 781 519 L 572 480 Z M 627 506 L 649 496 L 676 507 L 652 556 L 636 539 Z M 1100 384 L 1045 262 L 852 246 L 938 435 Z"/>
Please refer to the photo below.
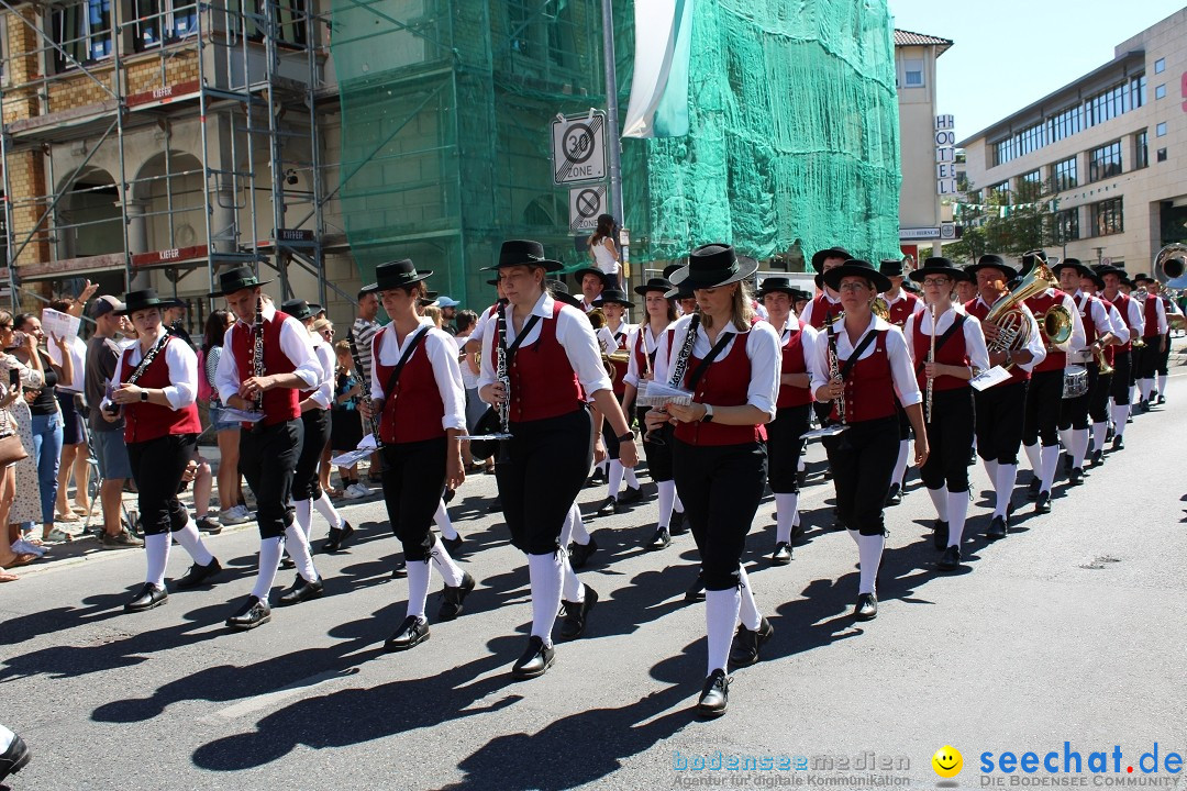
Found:
<path fill-rule="evenodd" d="M 899 147 L 902 186 L 899 192 L 899 245 L 903 254 L 923 259 L 939 255 L 945 196 L 956 192 L 954 133 L 951 116 L 935 107 L 935 62 L 952 42 L 904 30 L 894 32 L 895 79 L 899 85 Z M 947 127 L 947 128 L 940 128 Z M 948 229 L 952 228 L 947 223 Z M 951 231 L 950 231 L 951 232 Z"/>

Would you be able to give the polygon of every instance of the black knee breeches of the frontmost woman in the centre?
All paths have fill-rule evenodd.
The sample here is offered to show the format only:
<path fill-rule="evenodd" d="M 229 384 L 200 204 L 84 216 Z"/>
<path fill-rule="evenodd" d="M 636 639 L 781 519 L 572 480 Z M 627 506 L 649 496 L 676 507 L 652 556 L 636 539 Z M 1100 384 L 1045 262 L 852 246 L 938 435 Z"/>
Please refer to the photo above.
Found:
<path fill-rule="evenodd" d="M 674 441 L 675 489 L 692 523 L 705 589 L 736 588 L 745 536 L 767 483 L 767 448 Z"/>

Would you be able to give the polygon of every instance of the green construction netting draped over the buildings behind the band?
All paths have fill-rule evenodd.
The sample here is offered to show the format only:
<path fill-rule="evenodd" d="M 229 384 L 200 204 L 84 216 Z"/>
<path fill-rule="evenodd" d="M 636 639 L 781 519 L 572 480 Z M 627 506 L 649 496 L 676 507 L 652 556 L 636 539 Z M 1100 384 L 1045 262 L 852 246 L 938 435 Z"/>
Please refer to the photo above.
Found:
<path fill-rule="evenodd" d="M 756 257 L 897 255 L 899 117 L 884 0 L 699 0 L 686 138 L 623 145 L 631 262 L 707 241 Z M 634 9 L 615 1 L 620 103 Z M 571 267 L 550 125 L 603 108 L 598 0 L 334 0 L 342 204 L 364 279 L 412 257 L 477 304 L 506 238 Z M 472 298 L 472 299 L 471 299 Z"/>

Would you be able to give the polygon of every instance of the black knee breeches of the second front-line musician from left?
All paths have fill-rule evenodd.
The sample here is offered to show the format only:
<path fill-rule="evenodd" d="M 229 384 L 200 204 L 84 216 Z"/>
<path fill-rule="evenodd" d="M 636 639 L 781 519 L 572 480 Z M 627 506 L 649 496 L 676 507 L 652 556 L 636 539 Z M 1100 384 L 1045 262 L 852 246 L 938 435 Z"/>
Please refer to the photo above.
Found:
<path fill-rule="evenodd" d="M 239 471 L 255 495 L 261 538 L 279 538 L 293 522 L 288 499 L 305 425 L 300 419 L 239 433 Z"/>

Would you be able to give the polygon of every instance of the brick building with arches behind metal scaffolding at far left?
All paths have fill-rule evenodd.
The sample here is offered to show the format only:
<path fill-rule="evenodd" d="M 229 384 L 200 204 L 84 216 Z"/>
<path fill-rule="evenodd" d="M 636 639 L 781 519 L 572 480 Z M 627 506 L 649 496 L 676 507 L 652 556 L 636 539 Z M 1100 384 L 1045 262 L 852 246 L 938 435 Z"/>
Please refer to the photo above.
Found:
<path fill-rule="evenodd" d="M 112 13 L 114 6 L 114 14 Z M 326 218 L 320 129 L 337 113 L 329 26 L 301 0 L 70 0 L 7 9 L 4 234 L 14 307 L 30 283 L 184 283 L 201 327 L 220 269 L 261 263 L 292 294 L 344 247 Z M 76 34 L 77 33 L 77 34 Z M 265 192 L 266 197 L 260 193 Z M 120 276 L 110 282 L 113 273 Z M 158 283 L 158 291 L 166 289 Z M 307 294 L 306 294 L 307 295 Z"/>

